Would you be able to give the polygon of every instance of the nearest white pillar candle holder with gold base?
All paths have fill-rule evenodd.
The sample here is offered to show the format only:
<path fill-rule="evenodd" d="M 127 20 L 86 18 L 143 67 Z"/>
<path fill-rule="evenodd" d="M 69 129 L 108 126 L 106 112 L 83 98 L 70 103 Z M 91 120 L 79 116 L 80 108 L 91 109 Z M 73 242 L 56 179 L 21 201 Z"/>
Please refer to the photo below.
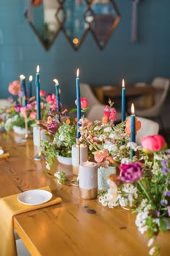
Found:
<path fill-rule="evenodd" d="M 85 200 L 97 198 L 97 163 L 83 162 L 79 165 L 80 196 Z"/>

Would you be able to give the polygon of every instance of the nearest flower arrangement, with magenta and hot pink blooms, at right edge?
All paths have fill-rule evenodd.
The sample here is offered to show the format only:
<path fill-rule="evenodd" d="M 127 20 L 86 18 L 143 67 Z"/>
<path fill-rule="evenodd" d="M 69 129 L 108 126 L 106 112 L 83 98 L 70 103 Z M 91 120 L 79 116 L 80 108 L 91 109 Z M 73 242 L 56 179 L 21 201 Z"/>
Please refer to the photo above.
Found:
<path fill-rule="evenodd" d="M 148 247 L 156 241 L 159 231 L 169 228 L 170 221 L 170 150 L 161 135 L 141 138 L 135 158 L 120 163 L 119 175 L 109 176 L 109 189 L 99 197 L 102 205 L 133 208 L 135 224 L 141 234 L 148 231 Z M 138 148 L 138 149 L 137 149 Z M 149 255 L 160 255 L 158 244 Z"/>

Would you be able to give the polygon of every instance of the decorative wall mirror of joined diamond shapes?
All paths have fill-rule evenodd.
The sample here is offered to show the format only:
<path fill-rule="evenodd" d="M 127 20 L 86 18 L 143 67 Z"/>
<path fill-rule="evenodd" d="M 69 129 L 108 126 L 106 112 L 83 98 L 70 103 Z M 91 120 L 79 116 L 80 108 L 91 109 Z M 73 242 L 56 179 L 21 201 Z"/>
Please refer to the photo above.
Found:
<path fill-rule="evenodd" d="M 120 22 L 114 0 L 27 0 L 27 21 L 46 50 L 62 30 L 78 50 L 90 30 L 103 49 Z"/>

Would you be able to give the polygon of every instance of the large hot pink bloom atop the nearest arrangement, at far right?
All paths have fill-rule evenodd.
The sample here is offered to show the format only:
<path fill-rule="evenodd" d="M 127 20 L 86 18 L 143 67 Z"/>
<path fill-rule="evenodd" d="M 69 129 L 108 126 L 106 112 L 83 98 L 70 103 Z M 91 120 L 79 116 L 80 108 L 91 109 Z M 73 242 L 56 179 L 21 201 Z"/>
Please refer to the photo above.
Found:
<path fill-rule="evenodd" d="M 142 147 L 149 151 L 159 151 L 164 148 L 166 141 L 161 135 L 151 135 L 147 137 L 140 137 Z"/>

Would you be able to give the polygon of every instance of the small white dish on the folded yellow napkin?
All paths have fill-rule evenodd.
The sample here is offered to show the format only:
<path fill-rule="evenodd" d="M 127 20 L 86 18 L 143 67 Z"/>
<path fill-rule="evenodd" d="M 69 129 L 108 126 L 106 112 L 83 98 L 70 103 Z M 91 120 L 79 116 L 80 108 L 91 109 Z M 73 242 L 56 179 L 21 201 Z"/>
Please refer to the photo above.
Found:
<path fill-rule="evenodd" d="M 48 202 L 51 197 L 51 192 L 47 190 L 32 189 L 19 194 L 17 200 L 24 205 L 41 205 Z"/>

